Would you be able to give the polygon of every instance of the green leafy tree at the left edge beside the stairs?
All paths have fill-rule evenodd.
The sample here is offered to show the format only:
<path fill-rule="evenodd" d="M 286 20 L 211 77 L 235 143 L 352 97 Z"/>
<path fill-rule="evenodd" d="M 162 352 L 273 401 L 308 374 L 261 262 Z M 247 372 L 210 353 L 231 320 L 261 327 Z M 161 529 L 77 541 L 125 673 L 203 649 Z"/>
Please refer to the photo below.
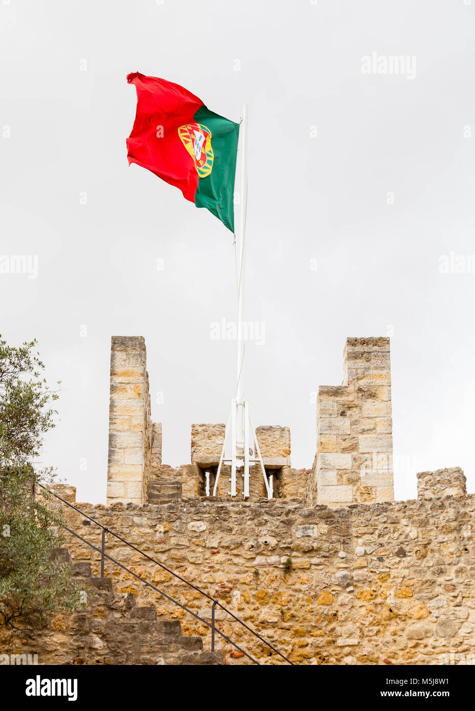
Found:
<path fill-rule="evenodd" d="M 34 466 L 43 434 L 55 426 L 58 394 L 41 378 L 36 341 L 21 348 L 0 338 L 0 626 L 43 624 L 48 613 L 73 609 L 77 585 L 70 564 L 55 557 L 63 542 L 62 510 L 35 495 L 52 469 Z"/>

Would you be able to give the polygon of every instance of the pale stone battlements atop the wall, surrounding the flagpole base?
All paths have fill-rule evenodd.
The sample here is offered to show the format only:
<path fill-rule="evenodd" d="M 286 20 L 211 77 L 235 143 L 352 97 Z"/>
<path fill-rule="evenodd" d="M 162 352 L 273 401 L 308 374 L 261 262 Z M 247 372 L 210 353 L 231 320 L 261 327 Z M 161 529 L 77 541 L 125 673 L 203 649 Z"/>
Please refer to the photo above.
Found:
<path fill-rule="evenodd" d="M 317 447 L 311 469 L 292 469 L 290 430 L 257 427 L 275 498 L 304 498 L 306 506 L 392 501 L 393 437 L 389 338 L 348 338 L 343 385 L 321 386 L 316 405 Z M 156 501 L 159 481 L 181 483 L 183 496 L 206 496 L 213 487 L 225 437 L 224 424 L 191 425 L 191 461 L 161 462 L 161 423 L 151 420 L 146 348 L 140 336 L 114 336 L 110 370 L 107 503 Z M 250 497 L 265 496 L 258 466 L 250 470 Z M 218 496 L 229 494 L 223 466 Z M 238 498 L 242 486 L 238 481 Z"/>

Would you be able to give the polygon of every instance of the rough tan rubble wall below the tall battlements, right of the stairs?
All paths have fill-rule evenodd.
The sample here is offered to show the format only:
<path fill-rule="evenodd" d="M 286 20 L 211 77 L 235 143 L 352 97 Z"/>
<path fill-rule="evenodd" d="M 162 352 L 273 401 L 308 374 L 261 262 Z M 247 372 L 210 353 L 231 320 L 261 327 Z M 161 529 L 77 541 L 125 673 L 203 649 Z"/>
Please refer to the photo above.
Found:
<path fill-rule="evenodd" d="M 475 648 L 475 496 L 466 496 L 459 469 L 426 472 L 419 481 L 417 501 L 344 508 L 198 497 L 164 506 L 79 507 L 218 597 L 296 663 L 449 663 Z M 431 486 L 436 498 L 427 498 Z M 452 486 L 456 493 L 446 496 Z M 66 517 L 99 545 L 99 530 L 69 510 Z M 69 549 L 97 574 L 95 551 L 78 539 Z M 110 534 L 106 552 L 209 619 L 209 601 Z M 117 592 L 181 619 L 185 634 L 203 636 L 210 648 L 206 626 L 110 562 L 106 574 L 118 581 Z M 220 611 L 218 621 L 253 656 L 272 663 L 266 648 Z M 242 663 L 228 647 L 221 646 L 228 663 Z"/>

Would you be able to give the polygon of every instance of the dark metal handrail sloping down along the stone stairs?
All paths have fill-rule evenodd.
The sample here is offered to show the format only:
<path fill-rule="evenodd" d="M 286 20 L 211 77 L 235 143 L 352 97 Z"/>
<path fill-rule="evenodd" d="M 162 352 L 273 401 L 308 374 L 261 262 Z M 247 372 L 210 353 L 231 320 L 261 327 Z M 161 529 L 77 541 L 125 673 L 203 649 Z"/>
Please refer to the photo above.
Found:
<path fill-rule="evenodd" d="M 270 649 L 272 649 L 272 651 L 274 651 L 276 654 L 278 654 L 280 657 L 282 657 L 282 659 L 284 659 L 284 661 L 288 662 L 288 663 L 291 664 L 292 666 L 294 665 L 294 663 L 291 662 L 284 654 L 282 654 L 282 652 L 279 652 L 279 650 L 276 649 L 271 643 L 269 643 L 269 642 L 268 642 L 267 640 L 265 640 L 262 636 L 260 636 L 260 634 L 258 634 L 255 630 L 253 630 L 250 626 L 248 626 L 247 624 L 245 624 L 245 622 L 243 622 L 241 619 L 239 619 L 239 617 L 237 617 L 235 614 L 233 614 L 233 612 L 231 612 L 230 610 L 228 610 L 228 608 L 225 607 L 224 605 L 222 605 L 222 604 L 219 602 L 219 600 L 214 599 L 213 597 L 210 596 L 210 594 L 208 594 L 207 592 L 205 592 L 205 591 L 202 590 L 201 588 L 197 587 L 196 585 L 193 585 L 193 583 L 189 582 L 186 578 L 181 577 L 181 575 L 178 575 L 178 573 L 174 572 L 174 571 L 171 570 L 169 567 L 166 567 L 166 565 L 164 565 L 163 563 L 159 562 L 159 560 L 155 560 L 155 559 L 152 558 L 150 555 L 148 555 L 147 553 L 145 553 L 143 550 L 140 550 L 139 548 L 137 548 L 137 546 L 135 546 L 133 543 L 130 543 L 129 541 L 125 540 L 125 539 L 122 538 L 122 536 L 120 536 L 118 533 L 115 533 L 114 531 L 110 530 L 110 528 L 107 528 L 107 526 L 105 526 L 105 525 L 103 525 L 102 523 L 100 523 L 99 521 L 95 520 L 95 518 L 92 518 L 90 515 L 88 515 L 88 514 L 85 513 L 84 511 L 80 510 L 80 508 L 77 508 L 76 506 L 73 506 L 72 503 L 70 503 L 69 501 L 66 501 L 64 498 L 62 498 L 61 496 L 59 496 L 59 494 L 55 493 L 55 491 L 52 491 L 52 490 L 49 488 L 48 485 L 44 486 L 43 484 L 41 484 L 41 483 L 39 483 L 39 482 L 37 482 L 37 485 L 38 485 L 38 486 L 41 486 L 41 488 L 45 489 L 45 491 L 47 491 L 48 493 L 53 494 L 53 496 L 55 496 L 55 498 L 58 498 L 60 501 L 62 501 L 63 503 L 65 503 L 66 506 L 69 506 L 70 508 L 73 508 L 77 513 L 80 513 L 80 515 L 85 516 L 85 518 L 88 518 L 90 521 L 92 521 L 92 523 L 95 523 L 95 525 L 97 525 L 97 526 L 99 526 L 100 528 L 102 528 L 101 547 L 100 547 L 100 549 L 99 549 L 99 548 L 97 548 L 95 545 L 93 545 L 92 543 L 90 543 L 88 540 L 86 540 L 85 538 L 82 538 L 82 536 L 79 535 L 79 533 L 75 533 L 75 531 L 73 531 L 73 530 L 71 530 L 70 528 L 68 528 L 68 526 L 66 526 L 66 525 L 64 525 L 64 524 L 61 524 L 61 525 L 63 526 L 63 528 L 68 531 L 68 533 L 74 535 L 76 538 L 80 538 L 80 540 L 82 540 L 82 541 L 85 542 L 87 545 L 89 545 L 91 548 L 93 548 L 94 550 L 96 550 L 97 552 L 100 553 L 100 555 L 101 555 L 101 577 L 104 577 L 104 562 L 105 562 L 105 558 L 107 558 L 107 560 L 112 561 L 115 565 L 118 565 L 119 567 L 121 567 L 122 570 L 127 571 L 129 574 L 133 575 L 133 576 L 136 577 L 138 580 L 140 580 L 141 582 L 143 582 L 143 583 L 145 583 L 146 585 L 148 585 L 148 587 L 151 587 L 151 588 L 154 589 L 156 592 L 158 592 L 159 594 L 163 595 L 163 597 L 166 597 L 166 599 L 170 600 L 170 602 L 173 602 L 174 604 L 178 605 L 179 607 L 181 607 L 181 609 L 185 610 L 186 612 L 189 612 L 189 614 L 193 615 L 193 617 L 196 617 L 196 619 L 200 620 L 201 622 L 203 622 L 204 624 L 206 624 L 208 627 L 210 627 L 210 629 L 211 629 L 211 651 L 214 651 L 214 648 L 215 648 L 215 632 L 217 632 L 221 637 L 223 637 L 223 639 L 225 639 L 227 642 L 229 642 L 230 644 L 232 644 L 238 651 L 240 651 L 242 654 L 244 654 L 244 655 L 245 655 L 247 658 L 249 658 L 253 663 L 255 663 L 255 664 L 257 664 L 257 665 L 260 666 L 260 664 L 259 664 L 258 661 L 256 661 L 252 656 L 250 656 L 250 654 L 248 654 L 246 651 L 244 651 L 244 650 L 241 649 L 239 646 L 237 646 L 237 644 L 236 644 L 235 642 L 233 642 L 232 640 L 230 640 L 230 638 L 228 638 L 227 636 L 225 636 L 225 634 L 223 634 L 223 632 L 221 632 L 221 631 L 215 626 L 215 607 L 218 605 L 223 611 L 225 611 L 227 614 L 229 614 L 231 617 L 233 617 L 233 619 L 235 619 L 235 621 L 237 621 L 240 625 L 242 625 L 243 627 L 245 627 L 245 629 L 247 629 L 247 631 L 249 631 L 249 632 L 250 632 L 251 634 L 253 634 L 255 637 L 257 637 L 258 639 L 260 639 L 260 641 L 261 641 L 262 643 L 264 643 L 266 646 L 268 646 Z M 204 595 L 205 597 L 207 597 L 209 600 L 211 600 L 211 602 L 213 603 L 212 606 L 211 606 L 211 623 L 209 623 L 208 621 L 206 621 L 205 619 L 203 619 L 202 617 L 200 617 L 199 615 L 197 615 L 196 612 L 193 612 L 193 611 L 191 611 L 190 609 L 188 609 L 188 607 L 186 607 L 185 605 L 182 605 L 181 602 L 178 602 L 178 600 L 175 600 L 173 597 L 170 597 L 170 596 L 167 595 L 165 592 L 159 590 L 157 587 L 155 587 L 154 585 L 152 585 L 151 582 L 149 582 L 148 580 L 146 580 L 146 579 L 140 577 L 139 575 L 137 575 L 137 573 L 132 572 L 132 570 L 129 570 L 129 568 L 127 568 L 127 567 L 125 567 L 124 565 L 122 565 L 122 563 L 119 563 L 119 561 L 115 560 L 115 559 L 114 559 L 113 557 L 111 557 L 110 555 L 107 555 L 107 553 L 105 552 L 105 534 L 106 534 L 106 532 L 107 532 L 107 533 L 110 533 L 110 534 L 113 535 L 115 538 L 117 538 L 119 541 L 121 541 L 121 542 L 124 543 L 125 545 L 128 545 L 130 548 L 132 548 L 133 550 L 135 550 L 135 551 L 137 551 L 138 553 L 140 553 L 140 555 L 143 555 L 144 557 L 146 557 L 148 560 L 150 560 L 151 562 L 153 562 L 155 565 L 159 565 L 161 568 L 163 568 L 164 570 L 166 570 L 167 572 L 169 572 L 171 575 L 173 575 L 174 577 L 178 578 L 178 580 L 181 580 L 181 582 L 184 582 L 184 583 L 185 583 L 186 585 L 188 585 L 189 587 L 192 587 L 193 589 L 195 589 L 196 592 L 201 593 L 202 595 Z"/>

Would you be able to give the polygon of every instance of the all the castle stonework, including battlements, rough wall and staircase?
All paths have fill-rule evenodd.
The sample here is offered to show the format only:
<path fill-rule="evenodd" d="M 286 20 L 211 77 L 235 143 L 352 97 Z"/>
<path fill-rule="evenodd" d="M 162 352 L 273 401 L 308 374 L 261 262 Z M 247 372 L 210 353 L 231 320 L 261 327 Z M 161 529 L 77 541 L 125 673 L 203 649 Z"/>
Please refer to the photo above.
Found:
<path fill-rule="evenodd" d="M 107 506 L 78 508 L 219 599 L 294 663 L 474 663 L 475 496 L 453 468 L 417 474 L 417 500 L 393 501 L 389 339 L 348 338 L 343 363 L 342 385 L 319 388 L 311 469 L 292 469 L 287 427 L 262 426 L 276 498 L 264 498 L 257 472 L 250 498 L 232 499 L 225 470 L 213 498 L 206 486 L 212 491 L 224 425 L 193 424 L 190 463 L 162 464 L 144 339 L 112 338 Z M 57 491 L 75 500 L 73 486 Z M 69 527 L 100 549 L 100 530 L 63 508 Z M 208 599 L 110 534 L 106 552 L 210 620 Z M 100 574 L 99 552 L 81 540 L 70 538 L 68 555 L 86 577 Z M 107 604 L 93 596 L 76 616 L 56 615 L 36 642 L 18 633 L 16 648 L 37 644 L 40 663 L 157 663 L 157 655 L 159 663 L 246 663 L 223 641 L 210 654 L 209 628 L 129 573 L 106 562 L 105 576 L 95 584 L 113 585 Z M 120 610 L 129 656 L 124 628 L 113 632 Z M 216 615 L 260 663 L 280 663 Z M 139 619 L 149 620 L 142 636 Z M 178 625 L 175 641 L 161 648 L 157 624 Z"/>

